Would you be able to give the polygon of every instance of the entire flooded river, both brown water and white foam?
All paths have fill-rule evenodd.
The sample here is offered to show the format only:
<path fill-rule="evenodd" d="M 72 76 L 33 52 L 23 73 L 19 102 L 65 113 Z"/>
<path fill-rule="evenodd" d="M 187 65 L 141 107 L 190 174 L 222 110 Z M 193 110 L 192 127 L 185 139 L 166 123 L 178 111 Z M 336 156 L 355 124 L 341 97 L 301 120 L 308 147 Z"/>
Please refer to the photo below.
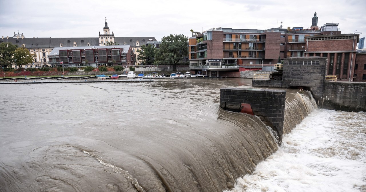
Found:
<path fill-rule="evenodd" d="M 364 113 L 288 91 L 288 126 L 305 119 L 279 147 L 259 118 L 219 107 L 221 87 L 250 84 L 1 85 L 0 191 L 365 190 Z"/>

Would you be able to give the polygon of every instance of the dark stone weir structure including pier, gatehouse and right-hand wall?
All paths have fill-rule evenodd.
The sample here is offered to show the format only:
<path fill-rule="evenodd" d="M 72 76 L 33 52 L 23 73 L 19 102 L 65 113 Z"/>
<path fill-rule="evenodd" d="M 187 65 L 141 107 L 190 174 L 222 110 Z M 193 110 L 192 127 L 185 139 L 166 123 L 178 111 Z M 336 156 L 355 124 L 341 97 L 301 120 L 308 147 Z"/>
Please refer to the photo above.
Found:
<path fill-rule="evenodd" d="M 286 98 L 286 91 L 281 89 L 308 90 L 322 109 L 366 111 L 366 83 L 336 82 L 337 77 L 326 75 L 327 62 L 327 58 L 318 56 L 285 58 L 269 80 L 252 80 L 253 87 L 271 89 L 221 88 L 220 107 L 258 116 L 276 132 L 279 144 Z"/>

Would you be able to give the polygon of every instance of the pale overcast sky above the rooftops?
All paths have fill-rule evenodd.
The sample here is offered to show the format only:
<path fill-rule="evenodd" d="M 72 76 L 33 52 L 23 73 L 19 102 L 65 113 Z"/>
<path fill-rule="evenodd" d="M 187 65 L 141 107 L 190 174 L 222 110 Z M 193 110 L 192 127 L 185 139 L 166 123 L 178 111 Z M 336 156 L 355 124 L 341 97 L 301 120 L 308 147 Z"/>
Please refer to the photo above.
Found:
<path fill-rule="evenodd" d="M 97 37 L 107 18 L 115 36 L 191 36 L 212 27 L 269 29 L 339 23 L 366 34 L 365 0 L 0 0 L 0 35 Z"/>

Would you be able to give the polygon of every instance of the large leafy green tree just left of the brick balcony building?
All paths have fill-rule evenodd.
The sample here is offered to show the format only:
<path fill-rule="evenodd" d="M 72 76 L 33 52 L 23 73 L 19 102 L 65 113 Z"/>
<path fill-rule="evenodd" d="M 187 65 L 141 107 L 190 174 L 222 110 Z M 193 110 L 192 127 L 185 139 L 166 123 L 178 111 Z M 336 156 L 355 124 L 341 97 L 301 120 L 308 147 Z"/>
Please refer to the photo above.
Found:
<path fill-rule="evenodd" d="M 185 35 L 172 35 L 163 37 L 161 44 L 156 51 L 154 64 L 176 64 L 188 54 L 188 37 Z"/>

